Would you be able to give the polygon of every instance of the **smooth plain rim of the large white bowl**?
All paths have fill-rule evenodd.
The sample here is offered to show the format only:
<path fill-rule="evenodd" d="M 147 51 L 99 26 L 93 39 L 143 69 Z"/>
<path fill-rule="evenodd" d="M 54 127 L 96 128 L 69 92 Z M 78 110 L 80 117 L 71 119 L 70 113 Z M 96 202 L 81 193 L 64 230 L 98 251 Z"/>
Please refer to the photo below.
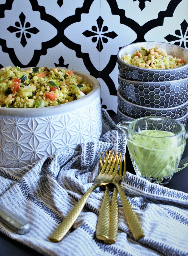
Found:
<path fill-rule="evenodd" d="M 68 102 L 66 104 L 60 104 L 57 106 L 48 106 L 48 107 L 44 107 L 44 108 L 31 108 L 31 109 L 30 108 L 25 108 L 25 109 L 23 109 L 23 108 L 20 108 L 20 109 L 0 108 L 0 116 L 35 118 L 35 117 L 63 114 L 63 113 L 67 113 L 70 111 L 75 111 L 75 110 L 84 108 L 84 104 L 82 104 L 82 103 L 84 103 L 84 101 L 86 99 L 88 99 L 88 101 L 90 103 L 92 103 L 100 95 L 101 86 L 100 86 L 98 80 L 96 78 L 94 78 L 93 76 L 91 76 L 90 74 L 86 74 L 84 72 L 74 70 L 74 69 L 67 69 L 64 67 L 58 67 L 58 68 L 72 70 L 78 76 L 87 77 L 88 80 L 90 80 L 93 84 L 92 91 L 90 93 L 88 93 L 87 95 L 85 95 L 84 97 L 80 98 L 79 100 Z M 28 69 L 28 68 L 22 68 L 22 70 L 25 70 L 25 69 Z"/>

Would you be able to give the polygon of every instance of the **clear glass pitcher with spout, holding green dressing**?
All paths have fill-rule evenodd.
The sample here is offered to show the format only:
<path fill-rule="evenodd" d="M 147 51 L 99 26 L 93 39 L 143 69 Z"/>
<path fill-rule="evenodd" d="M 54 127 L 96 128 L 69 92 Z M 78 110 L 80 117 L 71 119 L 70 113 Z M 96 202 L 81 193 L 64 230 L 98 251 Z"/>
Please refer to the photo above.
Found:
<path fill-rule="evenodd" d="M 120 122 L 117 127 L 126 135 L 136 175 L 166 185 L 174 173 L 188 165 L 188 157 L 180 161 L 188 136 L 178 121 L 147 116 Z"/>

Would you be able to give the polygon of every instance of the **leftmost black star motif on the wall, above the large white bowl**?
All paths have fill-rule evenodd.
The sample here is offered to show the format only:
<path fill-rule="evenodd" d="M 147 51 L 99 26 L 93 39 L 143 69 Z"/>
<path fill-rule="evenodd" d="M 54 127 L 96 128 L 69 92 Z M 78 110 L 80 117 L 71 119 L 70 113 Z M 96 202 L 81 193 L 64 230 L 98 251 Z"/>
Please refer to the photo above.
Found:
<path fill-rule="evenodd" d="M 23 47 L 25 47 L 27 45 L 26 37 L 28 39 L 31 38 L 31 34 L 36 35 L 39 32 L 39 30 L 35 27 L 30 28 L 31 24 L 29 22 L 26 22 L 26 24 L 25 24 L 26 16 L 23 13 L 20 14 L 19 18 L 20 18 L 20 22 L 17 21 L 15 23 L 16 27 L 10 26 L 7 28 L 7 30 L 10 33 L 17 32 L 16 33 L 17 38 L 20 38 L 20 36 L 22 34 L 20 43 Z M 21 25 L 20 25 L 20 23 L 21 23 Z M 25 37 L 25 34 L 26 34 L 26 37 Z"/>

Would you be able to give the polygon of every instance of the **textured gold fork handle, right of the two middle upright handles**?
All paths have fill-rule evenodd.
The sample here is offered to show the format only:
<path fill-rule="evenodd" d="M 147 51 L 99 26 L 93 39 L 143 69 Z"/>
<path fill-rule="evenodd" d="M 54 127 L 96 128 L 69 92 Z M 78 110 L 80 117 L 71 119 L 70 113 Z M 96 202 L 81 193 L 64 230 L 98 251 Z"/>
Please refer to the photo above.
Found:
<path fill-rule="evenodd" d="M 112 200 L 110 205 L 110 225 L 109 225 L 109 236 L 108 239 L 104 240 L 106 244 L 112 244 L 116 242 L 118 233 L 118 200 L 117 200 L 117 189 L 114 188 L 112 194 Z"/>

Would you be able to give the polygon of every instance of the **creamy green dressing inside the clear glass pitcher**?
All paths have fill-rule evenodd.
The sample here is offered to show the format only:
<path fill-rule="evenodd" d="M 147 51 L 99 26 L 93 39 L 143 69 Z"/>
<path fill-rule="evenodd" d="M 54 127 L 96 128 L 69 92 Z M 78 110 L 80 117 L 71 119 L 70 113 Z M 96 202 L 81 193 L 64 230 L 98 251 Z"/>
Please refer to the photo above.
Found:
<path fill-rule="evenodd" d="M 170 177 L 170 173 L 176 171 L 185 143 L 181 145 L 174 135 L 158 130 L 143 130 L 129 135 L 129 153 L 142 177 Z"/>

